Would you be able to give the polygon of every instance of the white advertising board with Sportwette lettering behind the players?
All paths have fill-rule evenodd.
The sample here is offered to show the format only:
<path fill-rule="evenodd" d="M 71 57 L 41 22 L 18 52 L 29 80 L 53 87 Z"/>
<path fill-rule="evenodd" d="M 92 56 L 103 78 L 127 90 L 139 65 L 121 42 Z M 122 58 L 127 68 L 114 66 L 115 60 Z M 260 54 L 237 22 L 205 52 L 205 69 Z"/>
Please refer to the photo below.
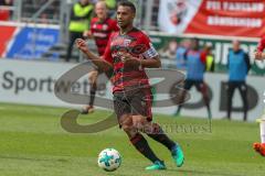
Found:
<path fill-rule="evenodd" d="M 0 102 L 82 107 L 81 105 L 63 102 L 54 95 L 54 81 L 75 66 L 76 64 L 66 63 L 0 59 Z M 87 76 L 84 76 L 78 80 L 81 87 L 86 81 L 86 78 Z M 211 101 L 213 118 L 222 118 L 226 114 L 225 111 L 220 110 L 220 101 L 224 98 L 224 95 L 221 95 L 221 81 L 226 80 L 227 76 L 223 74 L 206 74 L 205 76 L 205 81 L 213 92 Z M 263 113 L 263 109 L 265 108 L 265 78 L 250 76 L 247 78 L 247 84 L 257 95 L 257 105 L 248 113 L 248 119 L 254 121 Z M 86 87 L 86 91 L 88 91 L 88 89 L 89 87 Z M 84 87 L 80 88 L 81 94 L 84 91 Z M 197 92 L 195 88 L 193 88 L 190 94 L 191 99 L 188 103 L 201 100 L 201 95 Z M 107 84 L 107 90 L 105 92 L 99 92 L 97 96 L 112 99 L 110 85 Z M 234 107 L 242 106 L 241 97 L 237 91 L 233 100 Z M 159 108 L 155 109 L 153 112 L 172 114 L 176 112 L 176 109 L 177 107 Z M 190 110 L 183 108 L 182 114 L 203 118 L 206 117 L 206 109 L 204 107 Z M 234 119 L 242 119 L 243 114 L 241 112 L 234 112 L 232 117 Z"/>

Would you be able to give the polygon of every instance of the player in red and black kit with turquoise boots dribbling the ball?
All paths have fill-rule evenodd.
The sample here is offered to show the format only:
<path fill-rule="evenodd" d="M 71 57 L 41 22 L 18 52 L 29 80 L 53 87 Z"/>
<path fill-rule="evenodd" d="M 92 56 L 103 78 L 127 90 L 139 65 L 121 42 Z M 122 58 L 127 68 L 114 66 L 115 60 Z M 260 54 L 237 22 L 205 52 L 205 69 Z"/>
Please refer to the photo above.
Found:
<path fill-rule="evenodd" d="M 119 125 L 131 144 L 152 162 L 146 169 L 166 169 L 166 165 L 153 153 L 141 133 L 163 144 L 180 167 L 184 161 L 180 145 L 170 140 L 159 124 L 151 122 L 152 95 L 145 68 L 158 68 L 161 63 L 149 37 L 134 28 L 135 15 L 134 3 L 129 1 L 118 3 L 117 21 L 120 31 L 112 34 L 102 58 L 93 54 L 83 40 L 77 40 L 77 47 L 105 72 L 114 68 L 114 109 Z"/>

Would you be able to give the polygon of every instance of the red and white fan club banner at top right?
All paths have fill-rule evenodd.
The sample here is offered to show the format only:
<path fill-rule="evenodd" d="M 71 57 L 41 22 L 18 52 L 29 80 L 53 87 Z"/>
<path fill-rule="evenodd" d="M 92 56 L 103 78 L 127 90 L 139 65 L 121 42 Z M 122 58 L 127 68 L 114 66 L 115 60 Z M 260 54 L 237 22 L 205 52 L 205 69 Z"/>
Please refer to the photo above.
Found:
<path fill-rule="evenodd" d="M 159 28 L 194 33 L 259 37 L 265 34 L 265 0 L 162 0 Z"/>

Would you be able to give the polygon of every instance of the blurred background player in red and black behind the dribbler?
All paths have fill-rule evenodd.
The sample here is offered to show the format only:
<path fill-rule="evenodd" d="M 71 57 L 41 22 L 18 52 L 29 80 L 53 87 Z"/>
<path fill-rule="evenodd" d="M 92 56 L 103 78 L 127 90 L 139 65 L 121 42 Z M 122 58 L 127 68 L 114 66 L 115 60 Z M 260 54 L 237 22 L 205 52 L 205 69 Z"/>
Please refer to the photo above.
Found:
<path fill-rule="evenodd" d="M 114 31 L 118 31 L 117 22 L 108 18 L 108 10 L 106 2 L 98 1 L 95 6 L 96 18 L 93 18 L 91 21 L 91 30 L 84 33 L 85 37 L 94 37 L 98 55 L 103 56 L 105 48 L 108 43 L 108 38 Z M 82 109 L 82 113 L 92 113 L 94 111 L 94 101 L 97 89 L 97 77 L 98 74 L 102 74 L 102 70 L 95 68 L 88 74 L 88 79 L 91 84 L 91 99 L 88 106 Z M 109 74 L 106 74 L 107 77 L 110 77 Z"/>

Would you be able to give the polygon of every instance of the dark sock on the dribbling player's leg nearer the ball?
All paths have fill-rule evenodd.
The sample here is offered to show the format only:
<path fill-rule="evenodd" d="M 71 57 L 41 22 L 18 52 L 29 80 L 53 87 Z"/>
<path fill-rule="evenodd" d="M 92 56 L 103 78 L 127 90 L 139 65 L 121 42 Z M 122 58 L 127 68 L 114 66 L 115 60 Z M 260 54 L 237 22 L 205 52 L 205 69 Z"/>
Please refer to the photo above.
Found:
<path fill-rule="evenodd" d="M 156 161 L 160 161 L 156 154 L 150 148 L 149 144 L 147 143 L 146 139 L 137 133 L 132 139 L 130 139 L 131 144 L 139 151 L 144 156 L 150 160 L 152 163 Z"/>

